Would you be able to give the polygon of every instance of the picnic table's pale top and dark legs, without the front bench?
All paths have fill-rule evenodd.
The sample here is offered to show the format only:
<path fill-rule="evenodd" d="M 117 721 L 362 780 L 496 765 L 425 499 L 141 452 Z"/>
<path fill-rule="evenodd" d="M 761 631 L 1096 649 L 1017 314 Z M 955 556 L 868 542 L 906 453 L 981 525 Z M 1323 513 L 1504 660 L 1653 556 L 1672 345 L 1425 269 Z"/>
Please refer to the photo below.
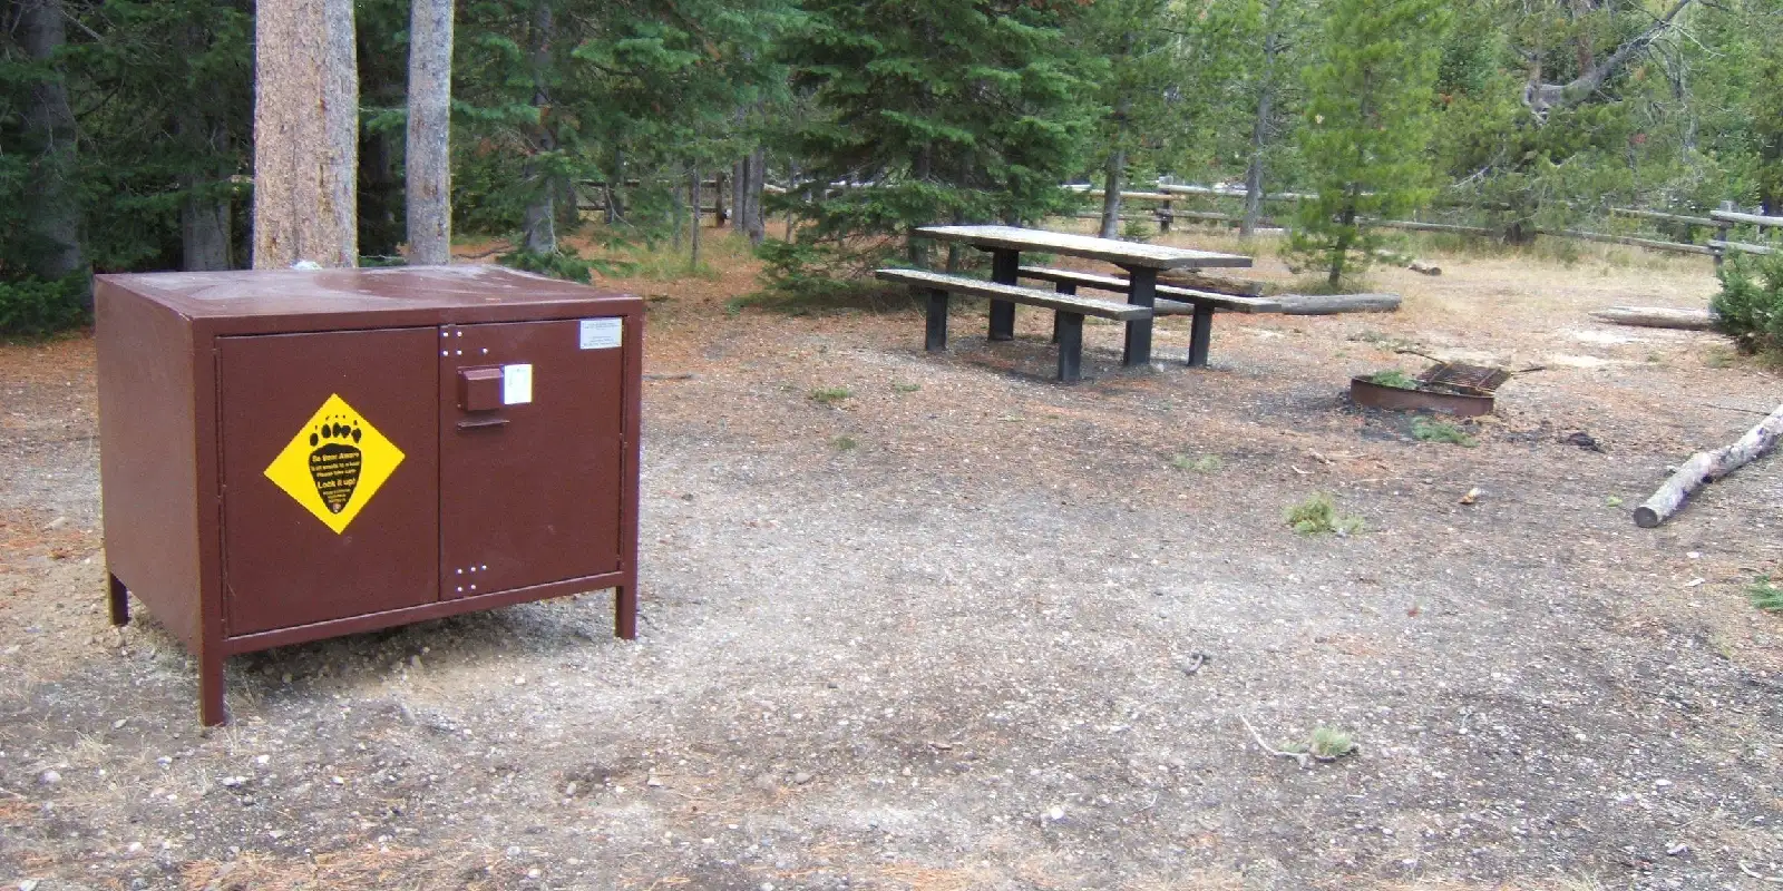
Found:
<path fill-rule="evenodd" d="M 1022 274 L 1022 251 L 1082 257 L 1086 260 L 1102 260 L 1118 266 L 1127 273 L 1127 303 L 1134 308 L 1143 308 L 1143 312 L 1123 314 L 1125 317 L 1107 312 L 1091 314 L 1114 317 L 1127 324 L 1127 342 L 1122 356 L 1122 364 L 1125 365 L 1146 365 L 1152 362 L 1152 310 L 1157 307 L 1159 271 L 1250 266 L 1250 257 L 1236 253 L 1195 251 L 1187 248 L 1139 244 L 1130 241 L 1098 239 L 1093 235 L 1073 235 L 1066 232 L 1047 232 L 1020 226 L 922 226 L 915 232 L 915 235 L 970 244 L 982 251 L 990 251 L 991 282 L 1007 287 L 1015 287 L 1016 278 Z M 1070 292 L 1063 292 L 1061 289 L 1061 296 L 1057 299 L 1063 299 Z M 1015 305 L 1018 299 L 1002 299 L 998 294 L 984 296 L 991 298 L 990 339 L 1013 339 Z M 1047 307 L 1047 303 L 1039 299 L 1020 301 Z M 1050 308 L 1059 312 L 1061 319 L 1066 315 L 1077 315 L 1077 321 L 1082 321 L 1080 314 L 1072 314 L 1070 310 L 1057 307 Z M 1066 344 L 1061 340 L 1061 349 Z M 1073 380 L 1075 369 L 1072 369 L 1072 378 L 1066 378 L 1064 355 L 1061 351 L 1061 378 Z"/>

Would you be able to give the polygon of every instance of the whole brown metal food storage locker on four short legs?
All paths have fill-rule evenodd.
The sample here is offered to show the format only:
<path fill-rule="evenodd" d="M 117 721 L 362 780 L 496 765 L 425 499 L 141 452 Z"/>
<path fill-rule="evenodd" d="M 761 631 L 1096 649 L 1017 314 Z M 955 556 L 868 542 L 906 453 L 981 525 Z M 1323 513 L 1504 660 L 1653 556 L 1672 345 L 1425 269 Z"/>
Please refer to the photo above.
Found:
<path fill-rule="evenodd" d="M 128 593 L 223 659 L 613 588 L 637 636 L 644 303 L 489 266 L 100 276 Z"/>

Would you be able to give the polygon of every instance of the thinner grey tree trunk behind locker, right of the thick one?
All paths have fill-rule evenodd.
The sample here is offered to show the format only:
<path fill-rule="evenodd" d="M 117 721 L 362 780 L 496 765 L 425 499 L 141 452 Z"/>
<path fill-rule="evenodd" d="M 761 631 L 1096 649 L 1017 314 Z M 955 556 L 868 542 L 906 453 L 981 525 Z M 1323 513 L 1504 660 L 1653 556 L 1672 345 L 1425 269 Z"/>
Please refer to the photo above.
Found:
<path fill-rule="evenodd" d="M 451 262 L 453 0 L 414 0 L 408 23 L 408 262 Z"/>

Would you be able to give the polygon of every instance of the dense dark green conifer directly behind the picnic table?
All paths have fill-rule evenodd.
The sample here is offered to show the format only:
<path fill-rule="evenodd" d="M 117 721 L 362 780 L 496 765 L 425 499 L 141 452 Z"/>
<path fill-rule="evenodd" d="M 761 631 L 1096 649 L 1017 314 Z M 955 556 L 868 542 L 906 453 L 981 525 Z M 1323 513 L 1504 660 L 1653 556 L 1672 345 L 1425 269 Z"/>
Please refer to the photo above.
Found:
<path fill-rule="evenodd" d="M 1077 4 L 809 0 L 788 37 L 808 200 L 804 242 L 900 241 L 922 225 L 1034 221 L 1063 208 L 1095 105 L 1063 41 Z M 827 187 L 827 184 L 845 184 Z M 913 260 L 922 244 L 911 246 Z M 874 262 L 872 257 L 865 258 Z"/>

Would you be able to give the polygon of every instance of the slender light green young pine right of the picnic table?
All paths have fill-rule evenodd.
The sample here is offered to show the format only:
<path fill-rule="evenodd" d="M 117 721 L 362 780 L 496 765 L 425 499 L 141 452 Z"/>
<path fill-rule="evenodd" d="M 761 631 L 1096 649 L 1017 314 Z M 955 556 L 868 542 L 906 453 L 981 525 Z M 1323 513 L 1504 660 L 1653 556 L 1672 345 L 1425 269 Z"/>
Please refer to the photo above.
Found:
<path fill-rule="evenodd" d="M 1291 249 L 1337 287 L 1380 248 L 1369 217 L 1405 214 L 1432 194 L 1426 148 L 1448 4 L 1334 0 L 1325 16 L 1300 132 L 1318 198 L 1300 207 Z"/>

